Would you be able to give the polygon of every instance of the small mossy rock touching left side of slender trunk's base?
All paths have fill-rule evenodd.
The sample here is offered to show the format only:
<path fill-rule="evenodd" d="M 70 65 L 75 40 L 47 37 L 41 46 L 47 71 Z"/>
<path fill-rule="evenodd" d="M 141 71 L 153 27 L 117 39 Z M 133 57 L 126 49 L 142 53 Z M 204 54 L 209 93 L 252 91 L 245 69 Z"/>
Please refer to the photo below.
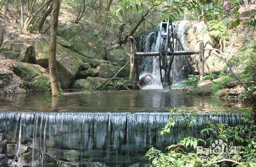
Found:
<path fill-rule="evenodd" d="M 31 89 L 38 92 L 49 92 L 51 90 L 51 80 L 49 75 L 38 75 L 31 81 Z"/>

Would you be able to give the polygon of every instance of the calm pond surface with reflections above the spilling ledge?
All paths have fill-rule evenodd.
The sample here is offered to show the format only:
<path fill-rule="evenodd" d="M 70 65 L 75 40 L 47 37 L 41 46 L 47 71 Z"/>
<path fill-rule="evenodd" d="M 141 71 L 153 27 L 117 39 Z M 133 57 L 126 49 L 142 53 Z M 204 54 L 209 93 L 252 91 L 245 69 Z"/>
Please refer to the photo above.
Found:
<path fill-rule="evenodd" d="M 163 112 L 187 106 L 197 110 L 225 107 L 244 107 L 243 103 L 190 96 L 178 90 L 113 91 L 100 93 L 68 93 L 62 97 L 50 94 L 22 94 L 0 97 L 0 110 L 49 111 L 49 112 Z"/>

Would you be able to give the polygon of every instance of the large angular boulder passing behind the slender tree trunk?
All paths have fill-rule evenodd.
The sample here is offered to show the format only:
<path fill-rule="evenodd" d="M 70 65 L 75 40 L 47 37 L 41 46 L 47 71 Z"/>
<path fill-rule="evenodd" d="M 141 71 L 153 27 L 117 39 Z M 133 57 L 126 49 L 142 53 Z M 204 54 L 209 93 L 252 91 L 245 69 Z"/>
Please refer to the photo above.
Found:
<path fill-rule="evenodd" d="M 41 39 L 35 42 L 35 58 L 36 64 L 48 68 L 49 51 L 45 40 Z M 81 69 L 83 60 L 81 55 L 57 43 L 56 64 L 61 88 L 66 89 Z"/>

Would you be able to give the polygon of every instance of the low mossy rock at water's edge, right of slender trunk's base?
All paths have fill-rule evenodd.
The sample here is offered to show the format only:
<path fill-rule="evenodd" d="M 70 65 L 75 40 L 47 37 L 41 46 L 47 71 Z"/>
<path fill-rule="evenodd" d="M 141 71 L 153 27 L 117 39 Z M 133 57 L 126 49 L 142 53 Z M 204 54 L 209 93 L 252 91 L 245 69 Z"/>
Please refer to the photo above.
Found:
<path fill-rule="evenodd" d="M 87 79 L 78 79 L 74 81 L 72 88 L 92 91 L 100 87 L 105 80 L 105 78 L 100 77 L 88 77 Z"/>

